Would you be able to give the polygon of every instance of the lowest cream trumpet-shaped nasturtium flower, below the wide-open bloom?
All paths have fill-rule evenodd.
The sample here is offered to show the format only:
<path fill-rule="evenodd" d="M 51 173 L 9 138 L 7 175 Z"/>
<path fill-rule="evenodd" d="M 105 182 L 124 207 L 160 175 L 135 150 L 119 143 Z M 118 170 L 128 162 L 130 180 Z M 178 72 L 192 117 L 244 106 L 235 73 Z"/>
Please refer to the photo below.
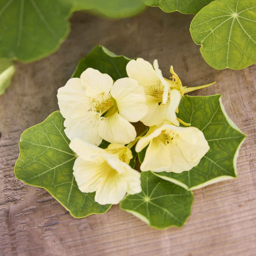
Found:
<path fill-rule="evenodd" d="M 140 173 L 129 166 L 132 152 L 121 144 L 99 148 L 75 138 L 69 144 L 78 155 L 73 174 L 79 189 L 96 191 L 94 200 L 99 204 L 118 204 L 126 195 L 141 192 Z"/>

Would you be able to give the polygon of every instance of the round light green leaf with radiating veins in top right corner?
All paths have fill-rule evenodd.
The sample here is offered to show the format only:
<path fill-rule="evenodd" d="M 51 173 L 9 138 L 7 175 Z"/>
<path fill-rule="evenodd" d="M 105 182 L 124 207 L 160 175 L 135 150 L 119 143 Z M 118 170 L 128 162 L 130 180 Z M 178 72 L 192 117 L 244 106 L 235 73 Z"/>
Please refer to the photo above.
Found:
<path fill-rule="evenodd" d="M 256 1 L 221 0 L 204 7 L 190 33 L 204 60 L 215 69 L 243 69 L 256 59 Z"/>

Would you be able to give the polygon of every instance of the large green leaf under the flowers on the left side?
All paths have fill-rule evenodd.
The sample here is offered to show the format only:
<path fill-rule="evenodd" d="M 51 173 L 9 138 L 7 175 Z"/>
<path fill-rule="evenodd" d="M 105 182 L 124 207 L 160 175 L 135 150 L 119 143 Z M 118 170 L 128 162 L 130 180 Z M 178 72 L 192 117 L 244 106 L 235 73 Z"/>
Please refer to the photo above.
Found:
<path fill-rule="evenodd" d="M 56 111 L 22 133 L 15 175 L 27 184 L 45 188 L 76 218 L 107 212 L 110 205 L 96 203 L 95 192 L 83 193 L 77 187 L 73 176 L 77 156 L 69 148 L 63 123 L 64 118 Z"/>

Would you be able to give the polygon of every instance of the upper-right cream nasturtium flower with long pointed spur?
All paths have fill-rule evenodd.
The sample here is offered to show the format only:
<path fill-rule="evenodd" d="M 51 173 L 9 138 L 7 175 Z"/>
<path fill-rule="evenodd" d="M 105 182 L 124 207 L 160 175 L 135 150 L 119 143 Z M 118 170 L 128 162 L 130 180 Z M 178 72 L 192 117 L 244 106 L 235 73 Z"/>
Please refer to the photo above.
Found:
<path fill-rule="evenodd" d="M 157 60 L 154 60 L 153 66 L 142 58 L 131 60 L 126 66 L 126 72 L 130 78 L 137 80 L 144 88 L 148 113 L 141 119 L 141 122 L 146 126 L 159 125 L 166 120 L 179 126 L 176 113 L 184 93 L 213 84 L 186 88 L 182 86 L 181 80 L 173 71 L 173 66 L 170 68 L 171 79 L 164 78 Z"/>

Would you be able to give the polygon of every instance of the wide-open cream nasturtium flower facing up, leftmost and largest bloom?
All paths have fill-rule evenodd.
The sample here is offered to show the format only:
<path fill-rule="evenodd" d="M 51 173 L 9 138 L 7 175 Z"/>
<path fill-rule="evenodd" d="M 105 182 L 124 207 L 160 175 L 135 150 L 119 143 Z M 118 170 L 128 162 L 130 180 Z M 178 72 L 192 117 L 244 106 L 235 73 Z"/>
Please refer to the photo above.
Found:
<path fill-rule="evenodd" d="M 108 74 L 93 68 L 69 79 L 57 97 L 67 137 L 94 145 L 102 139 L 120 144 L 134 140 L 130 122 L 138 122 L 148 111 L 143 87 L 136 80 L 125 77 L 113 83 Z"/>

